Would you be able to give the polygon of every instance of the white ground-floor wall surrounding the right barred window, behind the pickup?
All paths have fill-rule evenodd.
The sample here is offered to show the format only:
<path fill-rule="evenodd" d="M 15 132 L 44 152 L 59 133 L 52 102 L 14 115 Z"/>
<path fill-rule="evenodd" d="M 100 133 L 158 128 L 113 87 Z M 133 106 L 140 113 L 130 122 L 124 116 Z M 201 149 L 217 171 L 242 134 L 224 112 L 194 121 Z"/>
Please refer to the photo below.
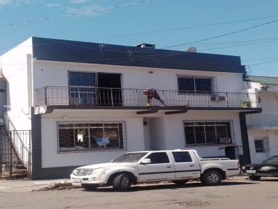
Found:
<path fill-rule="evenodd" d="M 186 146 L 183 120 L 232 120 L 234 141 L 242 154 L 240 122 L 236 111 L 188 111 L 185 114 L 152 118 L 150 122 L 152 146 L 158 149 L 196 149 L 203 157 L 225 155 L 223 145 Z"/>

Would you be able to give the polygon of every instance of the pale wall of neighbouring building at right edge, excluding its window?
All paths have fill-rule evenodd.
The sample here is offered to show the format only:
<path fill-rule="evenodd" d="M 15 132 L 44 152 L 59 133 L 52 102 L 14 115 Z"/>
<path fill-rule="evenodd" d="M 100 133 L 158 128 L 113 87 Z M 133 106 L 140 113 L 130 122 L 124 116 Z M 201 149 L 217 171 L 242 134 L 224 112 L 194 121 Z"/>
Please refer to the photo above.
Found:
<path fill-rule="evenodd" d="M 252 163 L 261 163 L 266 158 L 278 154 L 278 86 L 248 82 L 248 86 L 256 89 L 259 93 L 262 113 L 246 116 L 248 138 L 250 145 L 250 156 Z M 265 138 L 265 153 L 256 153 L 254 140 Z"/>

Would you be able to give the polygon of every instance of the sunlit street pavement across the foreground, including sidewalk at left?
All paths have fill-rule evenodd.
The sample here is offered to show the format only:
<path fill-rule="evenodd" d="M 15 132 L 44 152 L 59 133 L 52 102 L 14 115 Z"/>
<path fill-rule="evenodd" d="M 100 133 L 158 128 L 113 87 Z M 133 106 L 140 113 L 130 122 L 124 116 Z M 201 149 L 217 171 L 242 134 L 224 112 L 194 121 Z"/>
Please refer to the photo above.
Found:
<path fill-rule="evenodd" d="M 133 186 L 130 192 L 114 192 L 111 187 L 31 192 L 50 182 L 0 181 L 0 208 L 278 208 L 278 179 L 250 181 L 241 177 L 218 186 L 203 186 L 197 181 L 184 187 L 144 184 Z"/>

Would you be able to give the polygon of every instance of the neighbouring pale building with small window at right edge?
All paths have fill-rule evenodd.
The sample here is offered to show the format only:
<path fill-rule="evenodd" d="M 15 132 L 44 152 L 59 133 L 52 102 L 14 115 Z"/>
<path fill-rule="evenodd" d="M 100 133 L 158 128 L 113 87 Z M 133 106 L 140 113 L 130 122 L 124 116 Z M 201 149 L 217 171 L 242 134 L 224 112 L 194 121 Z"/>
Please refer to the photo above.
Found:
<path fill-rule="evenodd" d="M 248 88 L 256 90 L 262 113 L 247 116 L 252 163 L 278 155 L 278 78 L 247 76 Z"/>

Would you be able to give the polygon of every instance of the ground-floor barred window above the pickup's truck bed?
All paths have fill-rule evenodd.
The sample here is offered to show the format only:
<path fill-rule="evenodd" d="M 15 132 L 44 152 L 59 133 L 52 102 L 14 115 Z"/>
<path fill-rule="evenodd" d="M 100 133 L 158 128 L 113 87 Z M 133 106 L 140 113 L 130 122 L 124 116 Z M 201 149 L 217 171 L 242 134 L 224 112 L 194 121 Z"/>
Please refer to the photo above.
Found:
<path fill-rule="evenodd" d="M 183 121 L 186 145 L 212 145 L 232 143 L 232 121 Z"/>

